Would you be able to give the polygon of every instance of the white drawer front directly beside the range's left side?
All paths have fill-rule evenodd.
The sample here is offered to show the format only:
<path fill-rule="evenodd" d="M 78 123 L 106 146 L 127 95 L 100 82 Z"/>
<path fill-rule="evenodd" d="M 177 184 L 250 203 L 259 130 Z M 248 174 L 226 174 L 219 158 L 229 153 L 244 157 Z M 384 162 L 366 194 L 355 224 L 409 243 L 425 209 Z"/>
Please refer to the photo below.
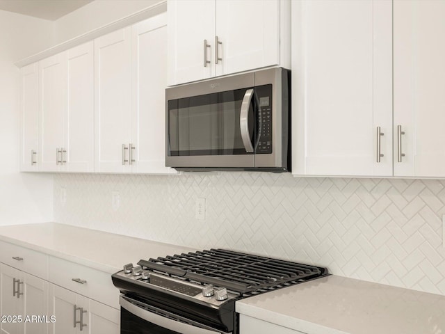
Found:
<path fill-rule="evenodd" d="M 113 285 L 110 273 L 50 256 L 49 281 L 113 308 L 120 308 L 120 292 Z"/>

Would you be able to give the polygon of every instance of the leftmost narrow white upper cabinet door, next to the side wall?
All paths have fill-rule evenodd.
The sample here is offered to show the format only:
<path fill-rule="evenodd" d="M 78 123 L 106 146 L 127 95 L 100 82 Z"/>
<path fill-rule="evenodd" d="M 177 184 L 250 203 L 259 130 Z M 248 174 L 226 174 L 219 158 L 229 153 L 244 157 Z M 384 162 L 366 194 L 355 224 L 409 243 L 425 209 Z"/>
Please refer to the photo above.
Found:
<path fill-rule="evenodd" d="M 21 152 L 20 170 L 38 170 L 39 150 L 39 66 L 38 63 L 22 67 L 21 72 Z M 35 154 L 33 154 L 35 152 Z M 35 162 L 33 162 L 35 161 Z"/>

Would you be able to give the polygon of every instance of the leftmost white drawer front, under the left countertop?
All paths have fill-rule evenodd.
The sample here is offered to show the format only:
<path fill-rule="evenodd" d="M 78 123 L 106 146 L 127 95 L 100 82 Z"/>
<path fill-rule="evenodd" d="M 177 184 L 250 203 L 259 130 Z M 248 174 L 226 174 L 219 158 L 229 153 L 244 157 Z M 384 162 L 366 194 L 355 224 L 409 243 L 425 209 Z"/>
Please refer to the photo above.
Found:
<path fill-rule="evenodd" d="M 0 241 L 0 262 L 48 280 L 48 255 Z"/>

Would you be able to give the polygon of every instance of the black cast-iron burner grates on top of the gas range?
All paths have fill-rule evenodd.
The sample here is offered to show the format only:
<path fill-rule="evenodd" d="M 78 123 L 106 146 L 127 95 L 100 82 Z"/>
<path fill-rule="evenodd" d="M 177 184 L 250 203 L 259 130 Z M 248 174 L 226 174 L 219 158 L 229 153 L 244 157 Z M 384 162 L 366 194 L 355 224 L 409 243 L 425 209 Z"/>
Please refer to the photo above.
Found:
<path fill-rule="evenodd" d="M 321 267 L 223 249 L 140 260 L 138 264 L 241 294 L 267 291 L 327 274 L 327 269 Z"/>

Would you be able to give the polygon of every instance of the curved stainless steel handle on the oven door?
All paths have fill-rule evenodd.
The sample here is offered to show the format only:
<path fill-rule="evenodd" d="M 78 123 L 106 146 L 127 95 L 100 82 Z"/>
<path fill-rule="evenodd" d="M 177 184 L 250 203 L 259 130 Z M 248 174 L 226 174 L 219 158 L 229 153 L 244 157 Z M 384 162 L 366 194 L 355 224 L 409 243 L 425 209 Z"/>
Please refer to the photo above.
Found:
<path fill-rule="evenodd" d="M 145 321 L 149 321 L 152 324 L 155 324 L 161 328 L 168 329 L 170 331 L 174 331 L 181 334 L 225 334 L 221 331 L 210 331 L 209 329 L 200 328 L 197 326 L 193 326 L 190 324 L 186 324 L 184 322 L 176 321 L 174 319 L 170 319 L 167 317 L 163 317 L 162 315 L 156 315 L 156 313 L 151 312 L 145 308 L 140 308 L 138 305 L 131 303 L 131 299 L 128 297 L 121 296 L 120 297 L 120 305 L 125 310 L 131 312 L 133 315 L 144 319 Z M 164 311 L 166 315 L 168 312 Z M 227 333 L 229 334 L 229 333 Z"/>

